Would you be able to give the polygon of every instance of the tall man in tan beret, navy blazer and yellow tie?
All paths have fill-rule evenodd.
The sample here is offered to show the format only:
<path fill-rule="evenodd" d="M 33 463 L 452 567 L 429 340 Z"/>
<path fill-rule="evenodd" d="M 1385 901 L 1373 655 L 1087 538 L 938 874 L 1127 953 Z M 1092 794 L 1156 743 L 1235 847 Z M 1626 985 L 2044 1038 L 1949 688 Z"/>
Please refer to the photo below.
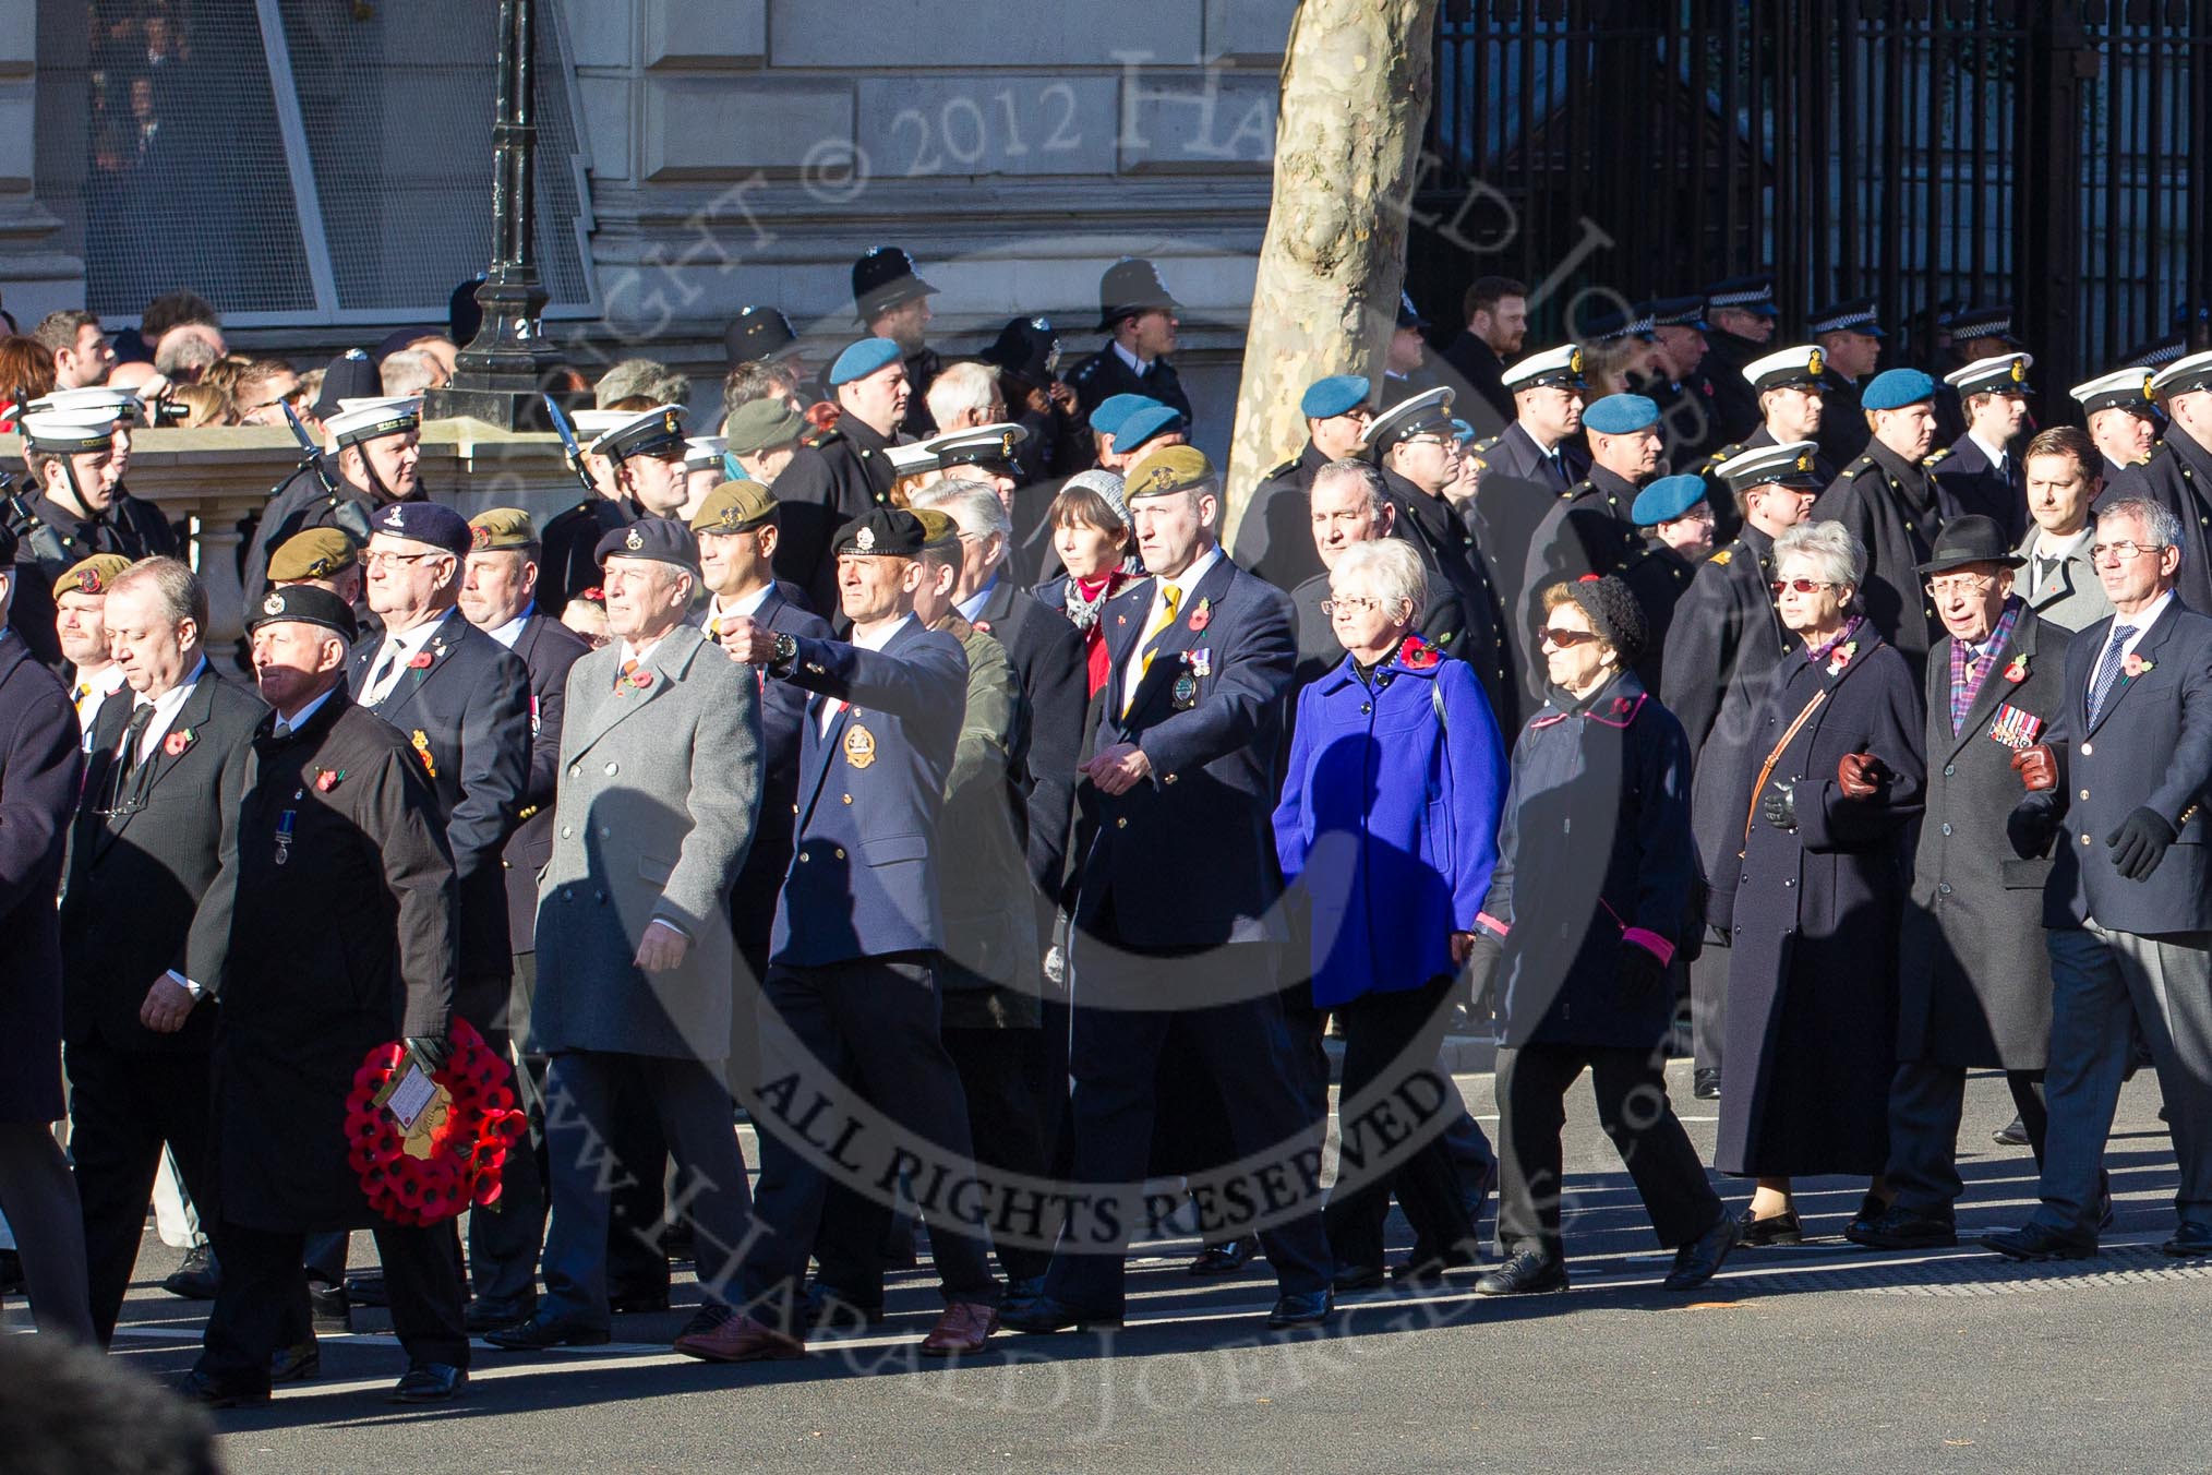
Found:
<path fill-rule="evenodd" d="M 1294 1084 L 1276 993 L 1274 743 L 1296 663 L 1290 597 L 1221 551 L 1221 482 L 1192 447 L 1164 447 L 1124 487 L 1150 579 L 1099 613 L 1113 655 L 1097 750 L 1079 798 L 1095 834 L 1073 940 L 1073 1179 L 1141 1183 L 1157 1068 L 1181 1033 L 1214 1073 L 1239 1159 L 1318 1148 Z M 1307 1196 L 1310 1199 L 1310 1196 Z M 1121 1234 L 1144 1234 L 1126 1205 Z M 1232 1232 L 1259 1227 L 1230 1225 Z M 1281 1298 L 1270 1327 L 1332 1311 L 1318 1212 L 1259 1227 Z M 1121 1320 L 1124 1249 L 1071 1218 L 1044 1294 L 1006 1314 L 1018 1331 Z M 1104 1243 L 1102 1243 L 1104 1241 Z"/>

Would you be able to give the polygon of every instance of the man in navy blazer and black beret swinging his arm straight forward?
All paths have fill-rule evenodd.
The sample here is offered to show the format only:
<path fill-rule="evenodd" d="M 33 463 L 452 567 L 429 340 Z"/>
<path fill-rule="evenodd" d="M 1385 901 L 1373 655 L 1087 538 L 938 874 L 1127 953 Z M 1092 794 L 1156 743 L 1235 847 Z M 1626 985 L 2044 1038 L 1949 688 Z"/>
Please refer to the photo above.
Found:
<path fill-rule="evenodd" d="M 726 650 L 814 699 L 801 728 L 794 854 L 770 944 L 761 1084 L 745 1095 L 761 1126 L 754 1232 L 741 1272 L 745 1309 L 677 1342 L 695 1358 L 805 1353 L 807 1256 L 830 1185 L 821 1141 L 810 1134 L 821 1128 L 810 1123 L 825 1103 L 854 1123 L 827 1157 L 845 1165 L 856 1192 L 887 1194 L 909 1170 L 925 1190 L 931 1179 L 975 1174 L 967 1097 L 938 1037 L 936 980 L 945 946 L 936 836 L 967 710 L 967 655 L 914 617 L 925 542 L 920 517 L 896 506 L 838 529 L 832 548 L 849 644 L 770 630 L 748 615 L 721 630 Z M 878 1103 L 936 1161 L 902 1159 L 896 1148 L 883 1154 L 889 1123 L 860 1101 Z M 872 1150 L 878 1157 L 867 1157 Z M 867 1170 L 852 1174 L 852 1161 Z M 980 1351 L 998 1329 L 989 1230 L 953 1216 L 933 1192 L 920 1199 L 945 1294 L 922 1353 Z"/>

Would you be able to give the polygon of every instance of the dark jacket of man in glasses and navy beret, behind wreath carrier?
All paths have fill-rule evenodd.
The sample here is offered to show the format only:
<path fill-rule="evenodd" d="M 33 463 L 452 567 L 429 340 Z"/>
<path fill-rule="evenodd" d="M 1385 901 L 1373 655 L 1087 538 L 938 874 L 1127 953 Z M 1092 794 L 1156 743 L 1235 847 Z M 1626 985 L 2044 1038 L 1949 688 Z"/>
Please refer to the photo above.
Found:
<path fill-rule="evenodd" d="M 398 686 L 376 708 L 409 739 L 425 776 L 438 792 L 445 838 L 460 878 L 460 977 L 456 1004 L 469 1024 L 498 1017 L 507 1002 L 504 980 L 513 975 L 513 940 L 507 931 L 507 867 L 502 849 L 522 812 L 522 789 L 531 774 L 531 672 L 500 648 L 458 608 L 422 646 L 427 666 L 405 666 Z M 347 690 L 358 697 L 380 655 L 380 641 L 354 648 Z M 420 741 L 418 741 L 420 739 Z M 469 988 L 500 980 L 495 993 Z"/>

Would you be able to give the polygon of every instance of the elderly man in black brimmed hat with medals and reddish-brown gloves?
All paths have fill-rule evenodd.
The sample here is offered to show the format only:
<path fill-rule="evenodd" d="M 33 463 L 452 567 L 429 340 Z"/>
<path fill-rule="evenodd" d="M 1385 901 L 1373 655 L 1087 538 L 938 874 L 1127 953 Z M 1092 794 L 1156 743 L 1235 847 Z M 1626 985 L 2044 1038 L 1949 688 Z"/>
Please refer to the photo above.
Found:
<path fill-rule="evenodd" d="M 1898 1075 L 1889 1092 L 1896 1199 L 1847 1234 L 1876 1249 L 1955 1245 L 1951 1205 L 1966 1070 L 2004 1070 L 2037 1161 L 2051 1050 L 2051 860 L 2015 860 L 2004 836 L 2013 754 L 2066 701 L 2066 641 L 2013 590 L 2026 559 L 1982 515 L 1958 517 L 1918 566 L 1944 635 L 1927 666 L 1927 816 L 1898 935 Z"/>

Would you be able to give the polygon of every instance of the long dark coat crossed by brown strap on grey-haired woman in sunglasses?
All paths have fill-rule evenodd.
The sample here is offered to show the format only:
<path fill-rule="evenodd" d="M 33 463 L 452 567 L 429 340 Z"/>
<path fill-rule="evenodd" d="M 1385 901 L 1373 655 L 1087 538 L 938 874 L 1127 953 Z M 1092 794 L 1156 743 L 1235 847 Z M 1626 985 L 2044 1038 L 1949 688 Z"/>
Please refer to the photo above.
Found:
<path fill-rule="evenodd" d="M 1721 1172 L 1876 1174 L 1889 1154 L 1902 843 L 1922 796 L 1920 681 L 1871 621 L 1851 639 L 1858 648 L 1840 670 L 1803 652 L 1783 659 L 1752 743 L 1756 778 L 1796 716 L 1823 697 L 1767 781 L 1796 783 L 1796 829 L 1750 814 L 1736 820 L 1750 823 L 1739 874 L 1725 878 L 1734 900 L 1728 1090 L 1714 1150 Z M 1871 752 L 1889 767 L 1871 798 L 1838 789 L 1836 765 L 1851 752 Z"/>

